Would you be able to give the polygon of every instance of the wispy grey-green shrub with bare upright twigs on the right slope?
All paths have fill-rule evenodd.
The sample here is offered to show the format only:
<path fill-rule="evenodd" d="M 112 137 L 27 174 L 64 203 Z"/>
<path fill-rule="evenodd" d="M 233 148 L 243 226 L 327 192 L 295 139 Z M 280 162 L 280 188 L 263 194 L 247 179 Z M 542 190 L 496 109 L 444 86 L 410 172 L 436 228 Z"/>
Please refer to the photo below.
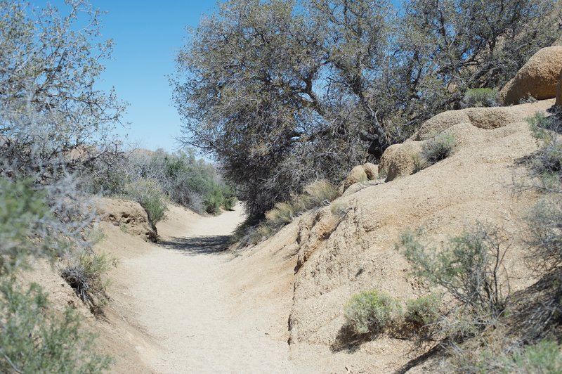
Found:
<path fill-rule="evenodd" d="M 477 224 L 439 248 L 425 243 L 420 231 L 408 232 L 398 249 L 416 276 L 445 288 L 459 302 L 470 323 L 485 328 L 504 311 L 509 284 L 502 268 L 506 249 L 497 228 Z"/>

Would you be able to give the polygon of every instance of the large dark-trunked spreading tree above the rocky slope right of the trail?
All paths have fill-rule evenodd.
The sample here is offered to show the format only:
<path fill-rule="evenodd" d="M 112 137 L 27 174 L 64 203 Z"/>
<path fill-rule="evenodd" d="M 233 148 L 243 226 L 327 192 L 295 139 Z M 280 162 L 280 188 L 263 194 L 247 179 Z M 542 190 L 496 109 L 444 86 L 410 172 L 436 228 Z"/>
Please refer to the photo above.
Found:
<path fill-rule="evenodd" d="M 230 0 L 177 57 L 184 141 L 251 217 L 377 160 L 467 88 L 500 86 L 554 40 L 554 2 Z"/>

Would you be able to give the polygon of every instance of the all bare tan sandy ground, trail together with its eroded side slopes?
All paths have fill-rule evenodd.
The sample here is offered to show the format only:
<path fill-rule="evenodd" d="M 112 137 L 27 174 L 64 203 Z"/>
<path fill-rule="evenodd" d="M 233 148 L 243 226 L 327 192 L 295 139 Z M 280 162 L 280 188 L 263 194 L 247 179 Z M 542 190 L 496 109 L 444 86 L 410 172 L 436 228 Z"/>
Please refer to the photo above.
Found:
<path fill-rule="evenodd" d="M 383 157 L 385 182 L 351 186 L 332 206 L 303 214 L 255 247 L 233 252 L 226 240 L 242 221 L 240 207 L 201 217 L 170 207 L 153 233 L 138 204 L 103 199 L 96 250 L 120 264 L 110 273 L 112 301 L 93 318 L 55 271 L 37 263 L 28 278 L 55 304 L 72 304 L 100 334 L 116 373 L 388 373 L 417 354 L 409 340 L 381 335 L 342 340 L 351 295 L 377 289 L 405 302 L 427 292 L 408 276 L 395 250 L 400 233 L 423 226 L 445 240 L 476 220 L 501 228 L 511 245 L 511 286 L 532 282 L 522 261 L 522 218 L 538 196 L 521 160 L 537 149 L 525 118 L 553 101 L 501 109 L 446 112 Z M 412 152 L 440 132 L 456 152 L 410 175 Z M 337 209 L 333 209 L 336 207 Z M 344 214 L 334 214 L 344 212 Z"/>

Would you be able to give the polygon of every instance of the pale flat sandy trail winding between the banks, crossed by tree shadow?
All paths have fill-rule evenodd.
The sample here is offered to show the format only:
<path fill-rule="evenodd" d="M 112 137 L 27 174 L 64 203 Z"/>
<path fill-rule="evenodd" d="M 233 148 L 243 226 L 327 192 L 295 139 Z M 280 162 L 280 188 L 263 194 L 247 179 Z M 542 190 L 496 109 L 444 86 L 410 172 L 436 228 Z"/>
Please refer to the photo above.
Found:
<path fill-rule="evenodd" d="M 162 245 L 122 264 L 133 274 L 136 319 L 158 342 L 145 357 L 154 372 L 303 371 L 289 361 L 286 341 L 254 323 L 267 316 L 237 313 L 231 257 L 221 251 L 241 220 L 240 209 L 218 217 L 191 214 L 166 226 Z"/>

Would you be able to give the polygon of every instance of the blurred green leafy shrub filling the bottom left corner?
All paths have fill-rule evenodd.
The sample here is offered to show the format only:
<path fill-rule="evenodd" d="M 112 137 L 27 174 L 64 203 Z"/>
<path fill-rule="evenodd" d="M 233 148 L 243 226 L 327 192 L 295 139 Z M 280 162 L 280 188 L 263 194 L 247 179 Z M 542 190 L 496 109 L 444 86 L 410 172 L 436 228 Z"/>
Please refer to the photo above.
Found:
<path fill-rule="evenodd" d="M 96 354 L 94 336 L 80 327 L 67 307 L 62 316 L 50 308 L 47 294 L 32 284 L 23 291 L 0 283 L 0 372 L 101 373 L 111 363 Z"/>

